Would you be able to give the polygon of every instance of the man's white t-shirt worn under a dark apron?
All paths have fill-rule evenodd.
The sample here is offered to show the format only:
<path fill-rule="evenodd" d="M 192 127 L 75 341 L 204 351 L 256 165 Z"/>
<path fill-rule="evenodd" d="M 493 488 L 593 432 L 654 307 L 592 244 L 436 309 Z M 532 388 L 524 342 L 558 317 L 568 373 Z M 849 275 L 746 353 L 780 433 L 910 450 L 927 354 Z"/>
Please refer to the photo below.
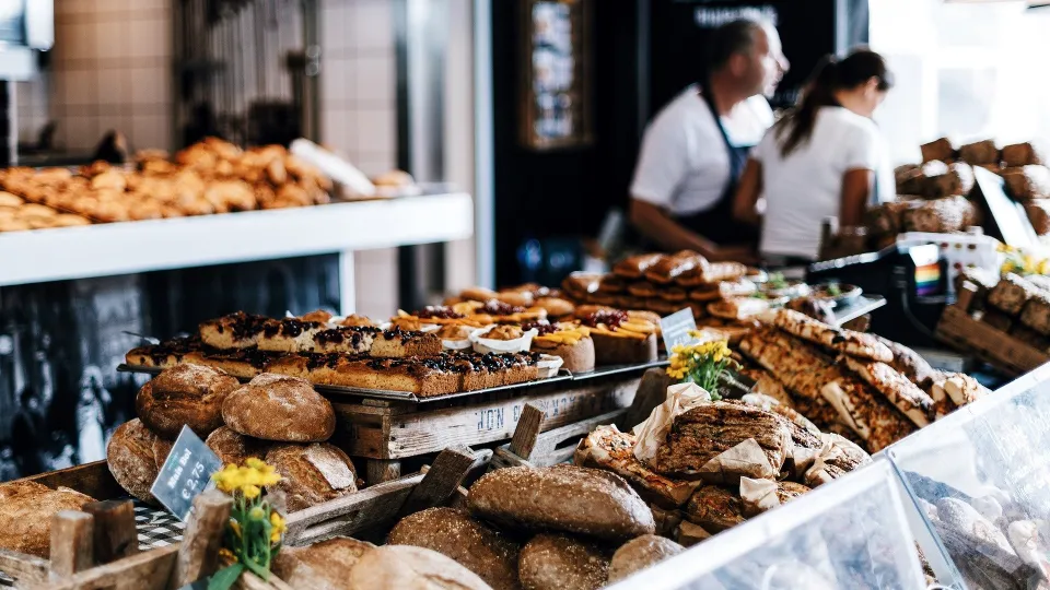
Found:
<path fill-rule="evenodd" d="M 773 125 L 773 111 L 766 98 L 751 96 L 723 116 L 722 125 L 732 145 L 750 148 Z M 725 140 L 699 86 L 692 84 L 645 129 L 631 197 L 674 215 L 688 215 L 718 204 L 728 184 Z"/>

